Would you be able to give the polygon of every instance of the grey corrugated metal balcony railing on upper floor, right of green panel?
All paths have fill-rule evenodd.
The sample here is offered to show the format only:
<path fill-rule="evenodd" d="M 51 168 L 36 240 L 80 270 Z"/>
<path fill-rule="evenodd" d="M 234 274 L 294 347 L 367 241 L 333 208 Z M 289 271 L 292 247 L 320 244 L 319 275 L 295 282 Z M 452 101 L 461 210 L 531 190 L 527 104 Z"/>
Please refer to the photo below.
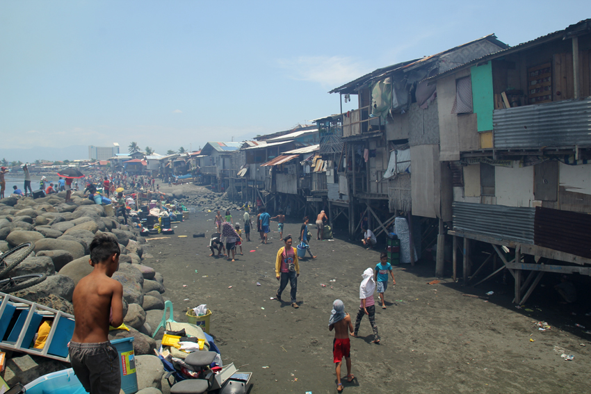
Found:
<path fill-rule="evenodd" d="M 496 149 L 591 145 L 591 97 L 494 110 Z"/>

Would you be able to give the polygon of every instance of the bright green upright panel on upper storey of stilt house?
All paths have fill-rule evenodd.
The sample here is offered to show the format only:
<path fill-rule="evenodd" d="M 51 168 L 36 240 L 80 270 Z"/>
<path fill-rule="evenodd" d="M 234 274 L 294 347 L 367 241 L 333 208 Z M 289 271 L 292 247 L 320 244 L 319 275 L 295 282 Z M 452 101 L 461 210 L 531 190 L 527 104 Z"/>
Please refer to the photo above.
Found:
<path fill-rule="evenodd" d="M 492 63 L 470 68 L 472 81 L 472 108 L 478 120 L 478 132 L 492 131 Z"/>

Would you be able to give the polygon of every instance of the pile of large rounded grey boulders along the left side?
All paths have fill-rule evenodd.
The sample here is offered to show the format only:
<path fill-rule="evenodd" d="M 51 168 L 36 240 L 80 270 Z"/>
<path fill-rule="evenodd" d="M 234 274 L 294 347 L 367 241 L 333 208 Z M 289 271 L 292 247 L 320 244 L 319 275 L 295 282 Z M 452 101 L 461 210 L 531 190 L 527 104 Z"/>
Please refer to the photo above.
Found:
<path fill-rule="evenodd" d="M 113 279 L 123 285 L 124 323 L 129 331 L 110 331 L 109 339 L 133 336 L 136 356 L 154 354 L 156 340 L 152 334 L 167 299 L 162 295 L 163 276 L 142 259 L 145 239 L 136 229 L 120 224 L 118 218 L 107 217 L 103 206 L 95 205 L 81 192 L 72 193 L 72 202 L 65 203 L 64 197 L 65 192 L 60 192 L 38 199 L 0 199 L 0 252 L 29 241 L 35 243 L 33 254 L 10 275 L 48 275 L 40 284 L 14 295 L 73 313 L 74 287 L 92 271 L 88 263 L 92 238 L 100 232 L 112 233 L 121 249 L 120 268 Z M 37 362 L 40 359 L 35 357 Z M 161 366 L 159 361 L 156 364 Z M 156 377 L 155 381 L 160 379 Z"/>

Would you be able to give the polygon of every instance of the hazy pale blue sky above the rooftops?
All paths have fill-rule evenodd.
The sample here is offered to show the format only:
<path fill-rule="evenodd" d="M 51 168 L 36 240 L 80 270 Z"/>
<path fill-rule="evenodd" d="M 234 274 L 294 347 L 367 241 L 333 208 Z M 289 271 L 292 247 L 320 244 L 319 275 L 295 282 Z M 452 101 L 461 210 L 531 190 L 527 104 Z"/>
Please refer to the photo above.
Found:
<path fill-rule="evenodd" d="M 519 44 L 590 11 L 568 0 L 0 0 L 0 155 L 132 141 L 165 154 L 292 129 L 339 113 L 327 92 L 373 69 L 490 33 Z"/>

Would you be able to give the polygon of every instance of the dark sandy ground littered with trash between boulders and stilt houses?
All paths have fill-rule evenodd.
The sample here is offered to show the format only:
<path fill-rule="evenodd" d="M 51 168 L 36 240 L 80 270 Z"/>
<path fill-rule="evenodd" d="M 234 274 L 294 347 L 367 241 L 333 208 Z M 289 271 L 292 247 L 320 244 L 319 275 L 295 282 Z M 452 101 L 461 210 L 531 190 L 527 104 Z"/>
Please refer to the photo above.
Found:
<path fill-rule="evenodd" d="M 236 221 L 243 213 L 233 211 L 232 215 Z M 154 258 L 144 263 L 164 275 L 165 296 L 174 303 L 175 320 L 186 321 L 188 307 L 207 304 L 213 312 L 211 334 L 224 362 L 233 361 L 241 370 L 254 372 L 251 393 L 336 393 L 334 334 L 328 331 L 332 302 L 342 299 L 355 320 L 361 274 L 378 263 L 379 252 L 339 239 L 313 240 L 311 247 L 318 258 L 300 261 L 300 309 L 293 309 L 289 302 L 270 300 L 278 287 L 275 256 L 284 245 L 277 239 L 277 224 L 271 224 L 268 245 L 261 245 L 258 234 L 251 233 L 252 242 L 243 245 L 244 256 L 237 255 L 232 263 L 208 256 L 214 216 L 191 215 L 174 224 L 178 226 L 175 235 L 148 241 L 155 247 L 145 252 Z M 299 223 L 287 223 L 284 234 L 296 234 L 299 229 Z M 314 226 L 310 230 L 315 238 Z M 193 238 L 193 233 L 206 231 L 206 238 Z M 334 229 L 337 237 L 345 231 Z M 250 252 L 253 249 L 256 252 Z M 345 383 L 345 393 L 590 391 L 590 335 L 567 325 L 589 326 L 591 318 L 583 313 L 572 316 L 556 303 L 528 303 L 533 312 L 516 309 L 510 304 L 512 282 L 478 289 L 464 288 L 451 279 L 427 285 L 435 279 L 430 276 L 434 271 L 432 262 L 394 268 L 397 284 L 390 283 L 387 290 L 388 307 L 378 308 L 375 316 L 382 343 L 371 343 L 371 326 L 365 317 L 361 338 L 351 338 L 356 379 Z M 484 296 L 488 290 L 495 290 L 489 302 L 462 296 Z M 289 285 L 282 297 L 289 300 Z M 190 301 L 184 301 L 187 298 Z M 549 322 L 552 329 L 538 331 L 535 322 L 539 320 Z M 563 350 L 574 354 L 574 361 L 560 358 Z M 341 375 L 346 375 L 344 363 Z"/>

